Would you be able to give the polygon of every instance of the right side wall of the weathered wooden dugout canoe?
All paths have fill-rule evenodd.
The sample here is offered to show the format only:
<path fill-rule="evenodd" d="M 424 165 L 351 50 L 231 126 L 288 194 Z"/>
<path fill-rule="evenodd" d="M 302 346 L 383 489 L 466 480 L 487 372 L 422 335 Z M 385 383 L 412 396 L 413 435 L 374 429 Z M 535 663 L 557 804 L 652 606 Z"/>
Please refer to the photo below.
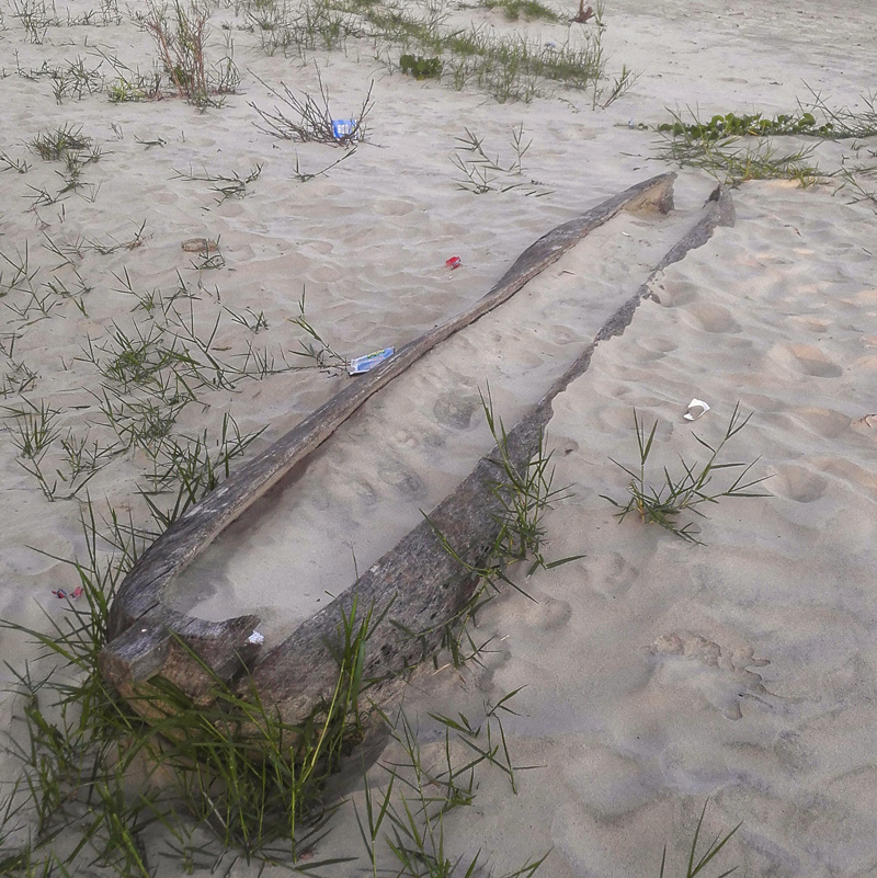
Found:
<path fill-rule="evenodd" d="M 550 421 L 551 402 L 591 363 L 596 345 L 620 335 L 634 311 L 650 292 L 654 276 L 702 247 L 718 225 L 733 224 L 733 205 L 724 189 L 717 189 L 707 202 L 698 223 L 661 259 L 640 286 L 604 323 L 594 341 L 543 396 L 535 408 L 510 431 L 506 452 L 521 470 L 537 453 L 539 440 Z M 368 641 L 365 677 L 381 677 L 402 671 L 418 661 L 423 649 L 440 646 L 442 623 L 453 617 L 475 589 L 470 573 L 444 548 L 435 534 L 440 531 L 460 558 L 479 566 L 499 534 L 500 503 L 492 486 L 508 483 L 499 460 L 499 449 L 482 458 L 466 480 L 395 548 L 366 571 L 353 588 L 311 616 L 284 642 L 261 658 L 251 669 L 255 689 L 264 704 L 280 708 L 291 722 L 304 719 L 320 698 L 331 693 L 338 679 L 338 665 L 328 645 L 338 638 L 341 612 L 350 615 L 354 597 L 358 606 L 374 606 L 376 612 L 389 606 L 385 620 L 376 626 Z M 435 529 L 434 529 L 435 528 Z M 422 632 L 412 638 L 405 630 Z M 432 630 L 430 630 L 432 629 Z M 390 684 L 391 685 L 391 684 Z M 377 696 L 377 693 L 372 693 Z"/>

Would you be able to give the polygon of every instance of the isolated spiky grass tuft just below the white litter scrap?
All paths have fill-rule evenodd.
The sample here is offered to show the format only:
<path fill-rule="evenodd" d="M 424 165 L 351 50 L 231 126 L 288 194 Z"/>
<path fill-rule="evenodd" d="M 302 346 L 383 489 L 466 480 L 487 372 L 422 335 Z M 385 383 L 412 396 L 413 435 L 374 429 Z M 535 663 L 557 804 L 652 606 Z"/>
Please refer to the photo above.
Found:
<path fill-rule="evenodd" d="M 619 464 L 614 458 L 610 458 L 613 464 L 620 467 L 630 477 L 627 486 L 627 492 L 630 497 L 625 504 L 613 500 L 606 494 L 601 494 L 601 498 L 607 500 L 619 510 L 615 514 L 619 523 L 636 511 L 640 520 L 647 524 L 658 524 L 688 543 L 703 545 L 697 538 L 698 532 L 694 529 L 693 522 L 687 522 L 680 526 L 680 515 L 690 512 L 705 518 L 706 515 L 698 509 L 704 503 L 718 503 L 724 498 L 770 497 L 770 494 L 751 490 L 770 478 L 768 476 L 747 480 L 748 474 L 758 463 L 758 458 L 749 464 L 722 463 L 719 459 L 727 443 L 749 423 L 751 417 L 751 414 L 745 418 L 741 417 L 740 403 L 738 402 L 728 421 L 725 435 L 716 445 L 710 445 L 706 440 L 693 433 L 692 435 L 694 435 L 695 440 L 710 453 L 707 461 L 699 466 L 696 463 L 688 464 L 680 457 L 682 474 L 673 477 L 664 467 L 663 480 L 656 487 L 649 483 L 646 469 L 651 455 L 658 421 L 652 424 L 647 434 L 645 423 L 640 420 L 637 410 L 634 409 L 634 429 L 639 448 L 639 466 L 637 469 L 631 469 L 624 464 Z M 716 487 L 710 487 L 714 476 L 722 470 L 736 474 L 731 483 L 720 490 Z"/>

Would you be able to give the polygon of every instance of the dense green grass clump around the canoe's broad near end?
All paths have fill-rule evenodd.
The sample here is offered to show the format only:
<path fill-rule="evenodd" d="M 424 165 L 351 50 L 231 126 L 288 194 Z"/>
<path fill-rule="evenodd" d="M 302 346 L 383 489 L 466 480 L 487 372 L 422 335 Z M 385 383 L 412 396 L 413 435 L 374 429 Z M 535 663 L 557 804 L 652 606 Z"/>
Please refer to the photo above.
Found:
<path fill-rule="evenodd" d="M 123 702 L 101 679 L 96 659 L 135 537 L 114 520 L 111 538 L 122 557 L 102 562 L 90 506 L 89 515 L 89 558 L 75 562 L 81 596 L 61 622 L 52 619 L 49 632 L 26 631 L 75 682 L 59 682 L 57 670 L 39 679 L 29 669 L 16 674 L 26 737 L 12 741 L 22 774 L 4 799 L 4 830 L 25 837 L 2 874 L 25 862 L 88 863 L 122 876 L 150 876 L 168 856 L 190 873 L 229 856 L 295 862 L 331 816 L 319 801 L 324 779 L 361 737 L 369 614 L 355 618 L 354 607 L 344 619 L 335 691 L 300 726 L 219 680 L 207 706 L 167 683 Z M 19 819 L 18 833 L 10 818 Z M 147 843 L 156 834 L 162 840 L 157 852 Z"/>

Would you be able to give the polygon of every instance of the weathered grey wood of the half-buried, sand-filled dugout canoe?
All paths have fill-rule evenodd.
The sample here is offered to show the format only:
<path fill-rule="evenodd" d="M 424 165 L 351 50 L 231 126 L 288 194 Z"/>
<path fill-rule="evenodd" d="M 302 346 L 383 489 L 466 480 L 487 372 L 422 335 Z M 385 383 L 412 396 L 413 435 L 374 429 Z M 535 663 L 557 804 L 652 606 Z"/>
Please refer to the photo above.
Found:
<path fill-rule="evenodd" d="M 426 522 L 271 651 L 262 652 L 259 645 L 248 639 L 259 617 L 205 622 L 169 607 L 162 594 L 225 527 L 307 457 L 368 397 L 444 339 L 501 305 L 620 210 L 669 212 L 673 206 L 674 179 L 675 174 L 661 174 L 638 183 L 539 238 L 470 309 L 408 343 L 386 363 L 351 381 L 174 522 L 140 556 L 119 588 L 110 612 L 110 640 L 100 657 L 104 676 L 123 695 L 135 695 L 139 684 L 161 677 L 201 699 L 207 697 L 214 677 L 234 684 L 246 669 L 241 692 L 251 693 L 254 686 L 263 704 L 277 707 L 285 720 L 298 722 L 334 687 L 338 665 L 330 646 L 338 637 L 341 611 L 349 615 L 354 597 L 360 607 L 373 606 L 379 612 L 390 606 L 369 639 L 365 677 L 384 677 L 401 671 L 417 661 L 424 648 L 436 647 L 442 623 L 465 604 L 476 582 L 445 550 Z M 652 277 L 681 260 L 688 250 L 705 243 L 717 225 L 732 223 L 730 197 L 718 189 L 698 223 L 664 255 L 640 289 L 509 433 L 508 454 L 516 466 L 526 466 L 537 451 L 542 431 L 551 417 L 553 399 L 588 368 L 594 346 L 601 340 L 624 331 L 637 305 L 648 294 Z M 430 516 L 460 557 L 474 565 L 483 560 L 499 529 L 498 501 L 490 486 L 502 474 L 490 457 L 483 458 Z M 412 638 L 405 631 L 429 634 Z M 198 655 L 200 662 L 193 660 L 191 652 Z M 137 706 L 136 698 L 134 704 Z"/>

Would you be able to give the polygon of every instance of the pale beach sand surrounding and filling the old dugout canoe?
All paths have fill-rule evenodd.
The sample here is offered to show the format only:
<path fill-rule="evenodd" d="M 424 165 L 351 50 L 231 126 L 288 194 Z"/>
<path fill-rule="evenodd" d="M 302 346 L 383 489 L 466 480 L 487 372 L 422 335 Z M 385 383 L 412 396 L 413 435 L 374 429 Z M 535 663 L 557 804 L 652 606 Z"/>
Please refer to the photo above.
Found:
<path fill-rule="evenodd" d="M 88 8 L 69 5 L 73 15 Z M 606 3 L 602 39 L 611 77 L 623 65 L 640 72 L 629 93 L 605 110 L 572 90 L 499 104 L 474 89 L 391 72 L 367 41 L 306 58 L 267 56 L 257 34 L 234 30 L 243 19 L 229 7 L 214 13 L 210 48 L 221 57 L 234 37 L 242 84 L 223 107 L 198 113 L 170 99 L 114 104 L 105 90 L 56 102 L 52 78 L 39 73 L 44 62 L 81 57 L 112 79 L 102 52 L 149 68 L 151 41 L 124 12 L 105 27 L 49 26 L 38 44 L 11 7 L 3 13 L 0 151 L 30 170 L 0 173 L 0 283 L 25 254 L 37 273 L 0 298 L 0 380 L 20 378 L 21 364 L 36 376 L 0 404 L 57 410 L 58 437 L 41 463 L 49 484 L 57 482 L 49 502 L 22 467 L 32 465 L 16 447 L 23 420 L 0 421 L 0 617 L 39 630 L 46 614 L 59 620 L 67 612 L 53 590 L 77 584 L 62 559 L 86 554 L 79 520 L 87 494 L 99 513 L 130 514 L 139 527 L 149 522 L 138 491 L 150 487 L 152 464 L 143 448 L 107 455 L 73 499 L 62 499 L 69 488 L 55 472 L 69 476 L 60 444 L 68 431 L 88 444 L 115 441 L 101 411 L 99 365 L 118 353 L 119 333 L 149 338 L 161 313 L 160 304 L 148 310 L 151 290 L 167 305 L 185 287 L 164 315 L 181 334 L 194 326 L 204 338 L 220 318 L 213 351 L 231 364 L 244 362 L 249 345 L 277 365 L 281 352 L 295 360 L 289 352 L 305 338 L 293 322 L 303 290 L 307 319 L 343 356 L 399 347 L 475 301 L 540 235 L 670 170 L 654 159 L 654 130 L 639 127 L 668 121 L 668 107 L 696 107 L 703 117 L 773 115 L 806 103 L 811 91 L 832 106 L 861 107 L 877 64 L 877 10 L 864 2 L 617 0 Z M 558 43 L 568 33 L 563 24 L 508 23 L 485 9 L 452 14 Z M 253 124 L 250 104 L 276 103 L 265 83 L 316 93 L 317 69 L 337 115 L 355 113 L 372 81 L 374 107 L 366 142 L 300 182 L 296 162 L 316 173 L 342 151 L 271 138 Z M 83 167 L 79 192 L 39 204 L 39 190 L 64 185 L 62 168 L 26 145 L 59 125 L 81 125 L 102 155 Z M 462 189 L 454 156 L 467 155 L 458 138 L 472 132 L 508 167 L 519 126 L 532 139 L 523 174 L 500 173 L 497 186 L 522 185 L 481 195 Z M 777 138 L 775 146 L 806 144 Z M 865 163 L 877 149 L 874 139 L 858 144 L 856 159 L 855 146 L 820 142 L 810 161 L 828 173 L 842 161 Z M 257 167 L 243 197 L 220 199 L 216 182 L 187 179 L 243 179 Z M 358 413 L 289 498 L 278 491 L 263 501 L 258 533 L 232 527 L 192 571 L 202 584 L 179 600 L 208 618 L 265 613 L 273 637 L 327 592 L 346 588 L 354 558 L 362 569 L 395 545 L 486 451 L 478 394 L 487 381 L 497 412 L 513 422 L 538 396 L 536 378 L 562 370 L 614 296 L 636 292 L 714 185 L 682 169 L 677 213 L 657 236 L 646 235 L 654 223 L 622 217 L 570 255 L 571 275 L 559 265 L 544 278 L 549 287 L 569 285 L 565 300 L 584 297 L 585 315 L 537 301 L 537 290 L 506 306 L 497 326 L 520 331 L 527 387 L 502 384 L 494 324 L 449 343 L 444 361 L 419 365 L 411 386 L 388 388 Z M 708 799 L 710 839 L 742 821 L 725 868 L 877 874 L 877 216 L 873 203 L 852 203 L 839 185 L 827 178 L 809 189 L 789 181 L 736 189 L 736 225 L 668 269 L 631 326 L 602 342 L 585 375 L 556 399 L 548 442 L 555 483 L 570 486 L 571 497 L 546 515 L 545 554 L 585 557 L 528 579 L 515 571 L 535 600 L 511 592 L 479 615 L 477 638 L 490 641 L 482 664 L 423 670 L 405 694 L 423 757 L 437 762 L 444 738 L 431 712 L 477 720 L 485 700 L 520 689 L 503 728 L 513 763 L 528 767 L 516 772 L 516 793 L 500 769 L 479 772 L 472 807 L 444 820 L 447 856 L 490 853 L 497 875 L 548 852 L 538 875 L 549 878 L 657 875 L 665 842 L 674 867 L 681 860 Z M 218 241 L 221 267 L 196 267 L 198 254 L 181 249 L 194 237 Z M 124 242 L 136 246 L 113 248 Z M 462 260 L 454 271 L 445 265 L 452 255 Z M 73 295 L 53 294 L 50 283 Z M 267 323 L 258 333 L 240 322 L 258 315 Z M 283 372 L 203 389 L 173 432 L 207 430 L 213 447 L 228 413 L 241 433 L 262 430 L 231 461 L 239 466 L 346 380 Z M 690 424 L 683 414 L 694 397 L 711 408 Z M 680 455 L 703 459 L 694 434 L 718 441 L 738 402 L 752 417 L 729 444 L 729 459 L 756 460 L 751 472 L 770 477 L 760 486 L 770 497 L 710 505 L 698 521 L 704 546 L 633 515 L 618 524 L 601 494 L 624 502 L 627 478 L 610 458 L 636 463 L 634 410 L 649 426 L 658 421 L 660 474 L 663 465 L 677 471 Z M 463 442 L 448 451 L 453 437 Z M 39 666 L 38 650 L 20 632 L 0 631 L 0 643 L 14 668 Z M 20 699 L 3 704 L 2 728 L 23 741 L 12 719 Z M 379 764 L 397 751 L 373 744 L 374 784 L 386 782 Z M 14 756 L 0 755 L 0 777 L 18 772 Z M 362 782 L 348 774 L 344 795 L 362 808 Z M 315 858 L 362 857 L 350 801 L 334 820 Z M 160 833 L 151 832 L 158 845 Z M 364 865 L 324 874 L 357 875 Z M 160 869 L 176 874 L 163 862 Z M 240 863 L 234 874 L 250 871 Z"/>

